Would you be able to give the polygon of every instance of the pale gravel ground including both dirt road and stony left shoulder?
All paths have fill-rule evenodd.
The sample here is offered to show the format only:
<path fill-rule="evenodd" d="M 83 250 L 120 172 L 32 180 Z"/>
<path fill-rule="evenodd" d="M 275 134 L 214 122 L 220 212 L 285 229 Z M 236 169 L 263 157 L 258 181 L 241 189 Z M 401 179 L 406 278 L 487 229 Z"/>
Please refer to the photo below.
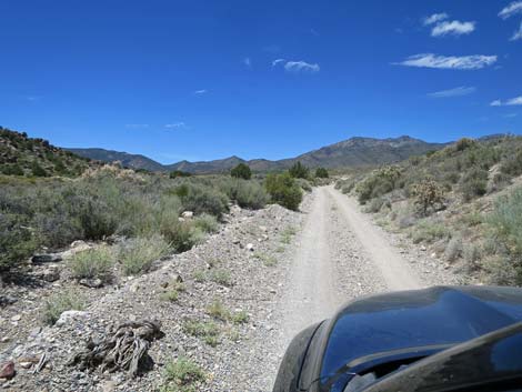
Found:
<path fill-rule="evenodd" d="M 87 311 L 61 326 L 34 331 L 38 306 L 23 306 L 36 301 L 34 293 L 2 308 L 0 334 L 6 339 L 0 362 L 19 363 L 22 356 L 47 353 L 50 364 L 37 374 L 18 366 L 19 374 L 3 383 L 4 390 L 154 391 L 162 383 L 164 364 L 185 356 L 207 374 L 199 391 L 267 392 L 293 335 L 329 318 L 344 302 L 456 282 L 451 271 L 428 255 L 390 241 L 354 201 L 333 187 L 314 189 L 299 213 L 271 205 L 237 211 L 205 243 L 161 261 L 155 271 L 110 290 L 90 289 Z M 185 290 L 177 301 L 164 301 L 164 288 L 178 275 Z M 36 290 L 47 295 L 46 290 L 64 284 L 70 283 Z M 209 310 L 217 302 L 229 314 L 247 312 L 248 321 L 220 319 L 215 309 Z M 88 338 L 103 336 L 118 322 L 140 319 L 161 321 L 164 333 L 152 343 L 155 365 L 142 378 L 129 380 L 121 373 L 82 372 L 67 365 Z M 213 323 L 219 344 L 209 345 L 202 336 L 187 333 L 188 320 Z"/>

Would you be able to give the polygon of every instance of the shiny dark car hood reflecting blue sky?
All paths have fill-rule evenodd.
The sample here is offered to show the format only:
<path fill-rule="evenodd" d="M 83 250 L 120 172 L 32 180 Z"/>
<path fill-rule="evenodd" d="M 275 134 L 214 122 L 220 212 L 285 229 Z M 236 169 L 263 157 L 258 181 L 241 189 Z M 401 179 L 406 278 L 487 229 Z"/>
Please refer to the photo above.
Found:
<path fill-rule="evenodd" d="M 414 348 L 440 351 L 519 321 L 522 290 L 516 288 L 436 287 L 364 298 L 330 321 L 320 383 L 365 356 Z"/>

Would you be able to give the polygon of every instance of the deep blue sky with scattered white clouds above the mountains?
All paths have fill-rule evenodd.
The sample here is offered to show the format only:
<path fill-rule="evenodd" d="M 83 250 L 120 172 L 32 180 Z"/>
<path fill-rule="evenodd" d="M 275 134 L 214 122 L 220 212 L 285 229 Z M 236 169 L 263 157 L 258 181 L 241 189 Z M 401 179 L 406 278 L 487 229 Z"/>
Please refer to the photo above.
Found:
<path fill-rule="evenodd" d="M 161 162 L 522 133 L 522 1 L 2 0 L 0 124 Z"/>

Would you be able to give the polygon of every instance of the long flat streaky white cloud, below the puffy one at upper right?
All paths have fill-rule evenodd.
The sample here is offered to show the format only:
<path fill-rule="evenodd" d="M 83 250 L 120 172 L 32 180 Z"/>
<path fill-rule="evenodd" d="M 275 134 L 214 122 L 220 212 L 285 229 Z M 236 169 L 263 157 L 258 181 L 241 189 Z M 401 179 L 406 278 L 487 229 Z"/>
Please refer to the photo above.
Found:
<path fill-rule="evenodd" d="M 394 63 L 396 66 L 435 68 L 435 69 L 455 69 L 455 70 L 478 70 L 496 62 L 496 56 L 436 56 L 433 53 L 423 53 L 410 56 L 404 61 Z"/>

